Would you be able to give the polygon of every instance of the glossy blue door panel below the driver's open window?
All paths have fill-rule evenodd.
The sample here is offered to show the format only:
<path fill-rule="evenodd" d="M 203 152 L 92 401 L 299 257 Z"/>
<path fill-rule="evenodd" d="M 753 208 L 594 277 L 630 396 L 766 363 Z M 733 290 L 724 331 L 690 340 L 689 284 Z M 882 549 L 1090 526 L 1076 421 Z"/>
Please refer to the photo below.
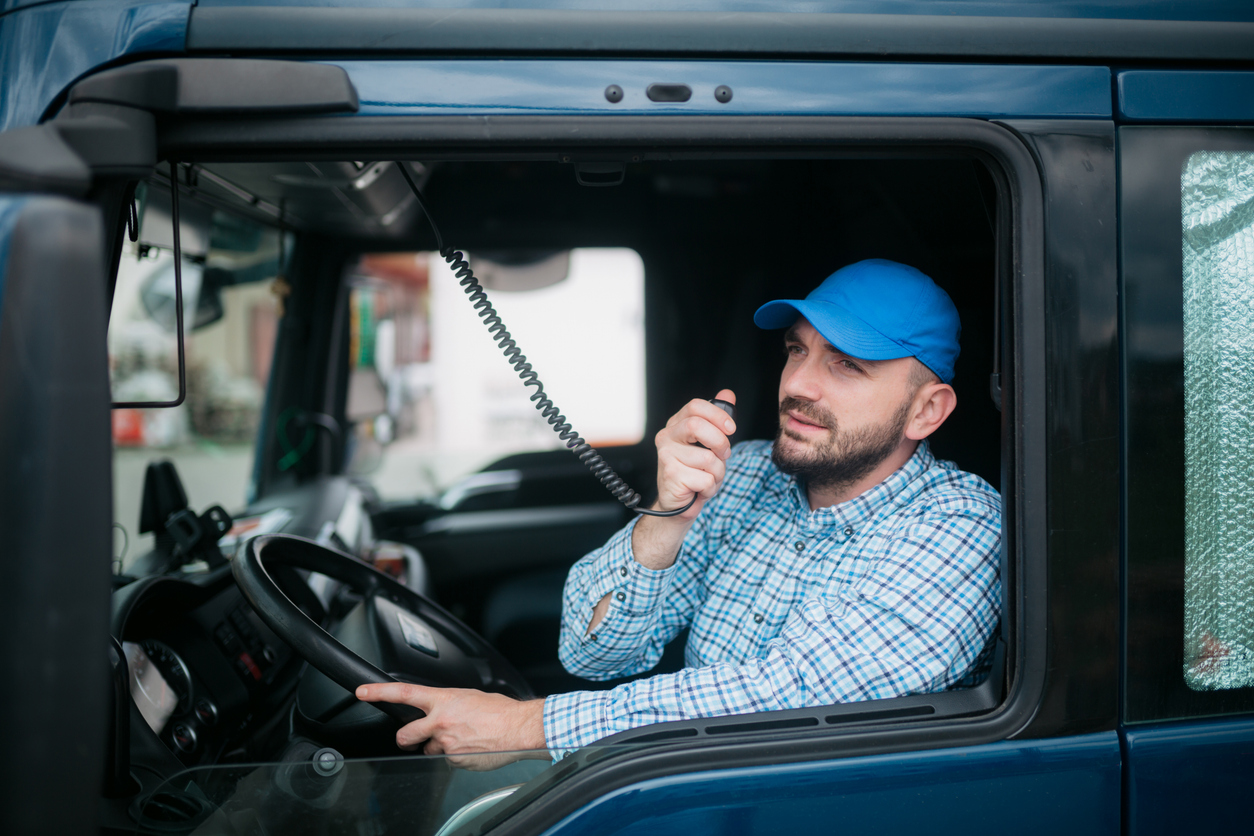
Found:
<path fill-rule="evenodd" d="M 1119 832 L 1115 732 L 657 778 L 549 833 Z M 999 826 L 998 826 L 999 823 Z"/>

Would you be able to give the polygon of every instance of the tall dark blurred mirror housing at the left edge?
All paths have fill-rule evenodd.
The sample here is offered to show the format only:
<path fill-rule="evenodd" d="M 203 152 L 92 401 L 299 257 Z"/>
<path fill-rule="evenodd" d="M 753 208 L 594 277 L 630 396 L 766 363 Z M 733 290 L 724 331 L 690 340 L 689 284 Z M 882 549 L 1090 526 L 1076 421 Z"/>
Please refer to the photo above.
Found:
<path fill-rule="evenodd" d="M 11 208 L 0 315 L 0 832 L 97 828 L 113 549 L 104 229 L 89 204 Z"/>

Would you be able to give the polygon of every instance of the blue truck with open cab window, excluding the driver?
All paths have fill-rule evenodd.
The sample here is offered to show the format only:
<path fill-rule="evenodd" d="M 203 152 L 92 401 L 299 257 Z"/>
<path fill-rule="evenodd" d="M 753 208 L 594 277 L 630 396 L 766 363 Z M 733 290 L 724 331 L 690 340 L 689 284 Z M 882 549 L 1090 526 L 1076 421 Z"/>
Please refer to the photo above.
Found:
<path fill-rule="evenodd" d="M 4 4 L 0 830 L 1244 831 L 1254 9 L 451 5 Z M 933 449 L 1004 506 L 988 677 L 400 752 L 355 684 L 616 684 L 557 629 L 631 514 L 454 247 L 646 495 L 691 397 L 774 434 L 759 305 L 933 276 Z"/>

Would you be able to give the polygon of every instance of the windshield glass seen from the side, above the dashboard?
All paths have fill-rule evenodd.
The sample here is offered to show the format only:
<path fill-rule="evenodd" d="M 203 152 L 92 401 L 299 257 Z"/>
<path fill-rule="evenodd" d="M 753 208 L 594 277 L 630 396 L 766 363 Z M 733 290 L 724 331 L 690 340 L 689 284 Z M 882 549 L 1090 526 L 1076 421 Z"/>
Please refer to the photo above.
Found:
<path fill-rule="evenodd" d="M 127 242 L 109 316 L 113 400 L 178 396 L 169 192 L 140 188 L 140 233 Z M 280 234 L 181 201 L 187 400 L 113 410 L 114 558 L 124 570 L 152 549 L 139 506 L 148 462 L 169 459 L 197 511 L 250 501 L 253 445 L 270 380 L 281 298 Z"/>

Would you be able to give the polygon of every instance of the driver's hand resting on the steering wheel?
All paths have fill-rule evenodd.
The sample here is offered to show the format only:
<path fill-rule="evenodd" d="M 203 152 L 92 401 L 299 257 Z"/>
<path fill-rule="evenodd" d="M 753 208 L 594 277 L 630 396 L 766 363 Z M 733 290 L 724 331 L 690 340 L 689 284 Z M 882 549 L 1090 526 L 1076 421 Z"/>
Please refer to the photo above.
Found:
<path fill-rule="evenodd" d="M 403 726 L 396 746 L 424 755 L 473 755 L 544 748 L 544 701 L 518 701 L 469 688 L 382 682 L 357 688 L 362 702 L 414 706 L 426 717 Z"/>

